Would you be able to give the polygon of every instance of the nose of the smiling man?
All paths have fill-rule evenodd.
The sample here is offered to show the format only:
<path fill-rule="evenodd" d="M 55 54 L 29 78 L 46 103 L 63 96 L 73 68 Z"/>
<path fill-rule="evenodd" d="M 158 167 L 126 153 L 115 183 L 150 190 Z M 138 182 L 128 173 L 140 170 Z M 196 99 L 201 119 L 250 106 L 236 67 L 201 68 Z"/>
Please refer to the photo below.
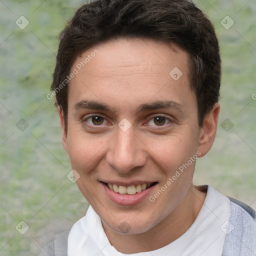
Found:
<path fill-rule="evenodd" d="M 132 127 L 126 131 L 118 128 L 109 142 L 106 161 L 118 172 L 128 173 L 146 163 L 145 146 L 134 134 Z"/>

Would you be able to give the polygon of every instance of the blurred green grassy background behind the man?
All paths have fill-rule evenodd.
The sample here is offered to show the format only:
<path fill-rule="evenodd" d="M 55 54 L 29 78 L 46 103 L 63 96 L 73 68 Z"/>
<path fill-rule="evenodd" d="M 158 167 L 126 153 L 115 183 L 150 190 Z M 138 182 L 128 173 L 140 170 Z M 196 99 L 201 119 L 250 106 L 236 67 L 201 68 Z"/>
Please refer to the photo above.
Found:
<path fill-rule="evenodd" d="M 197 160 L 194 183 L 210 184 L 256 208 L 256 4 L 195 2 L 219 38 L 222 85 L 217 136 Z M 70 226 L 88 207 L 66 177 L 69 159 L 53 99 L 46 98 L 58 34 L 81 4 L 0 0 L 0 255 L 37 255 L 45 235 Z M 20 16 L 29 21 L 26 27 Z M 20 221 L 29 226 L 24 234 Z"/>

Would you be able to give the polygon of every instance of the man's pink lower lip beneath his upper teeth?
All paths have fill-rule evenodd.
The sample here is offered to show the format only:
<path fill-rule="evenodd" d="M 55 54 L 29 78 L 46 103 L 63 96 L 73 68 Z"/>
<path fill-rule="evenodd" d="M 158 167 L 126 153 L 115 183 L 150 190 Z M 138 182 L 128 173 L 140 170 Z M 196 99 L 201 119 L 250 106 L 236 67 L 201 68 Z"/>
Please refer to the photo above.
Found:
<path fill-rule="evenodd" d="M 106 186 L 102 182 L 100 182 L 100 184 L 105 189 L 105 192 L 108 195 L 108 197 L 115 203 L 121 204 L 121 205 L 132 205 L 132 204 L 141 202 L 145 198 L 148 198 L 150 192 L 152 191 L 152 189 L 154 188 L 154 186 L 157 183 L 155 183 L 155 184 L 149 186 L 148 188 L 146 188 L 145 190 L 143 190 L 139 193 L 135 193 L 135 194 L 119 194 L 119 193 L 116 193 L 113 190 L 111 190 L 108 186 Z"/>

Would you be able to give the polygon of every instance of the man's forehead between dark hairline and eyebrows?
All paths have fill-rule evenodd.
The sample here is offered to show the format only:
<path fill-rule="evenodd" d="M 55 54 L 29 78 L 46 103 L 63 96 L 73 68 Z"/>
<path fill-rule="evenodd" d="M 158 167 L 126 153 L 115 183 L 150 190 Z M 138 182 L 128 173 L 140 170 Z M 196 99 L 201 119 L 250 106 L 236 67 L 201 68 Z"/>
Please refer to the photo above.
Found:
<path fill-rule="evenodd" d="M 68 95 L 72 105 L 84 98 L 141 104 L 151 98 L 162 100 L 163 96 L 169 100 L 167 95 L 179 102 L 181 96 L 193 94 L 188 54 L 175 44 L 115 39 L 84 51 L 75 59 L 74 69 L 77 74 L 69 83 Z"/>

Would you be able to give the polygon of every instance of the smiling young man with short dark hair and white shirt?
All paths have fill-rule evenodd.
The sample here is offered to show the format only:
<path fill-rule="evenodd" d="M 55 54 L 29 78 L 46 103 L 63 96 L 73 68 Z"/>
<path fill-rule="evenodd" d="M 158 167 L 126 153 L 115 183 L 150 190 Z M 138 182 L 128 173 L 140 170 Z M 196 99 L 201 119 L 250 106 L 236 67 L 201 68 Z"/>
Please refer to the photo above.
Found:
<path fill-rule="evenodd" d="M 214 141 L 220 72 L 214 28 L 190 1 L 94 0 L 76 11 L 52 91 L 90 206 L 44 254 L 256 254 L 255 212 L 192 183 Z"/>

